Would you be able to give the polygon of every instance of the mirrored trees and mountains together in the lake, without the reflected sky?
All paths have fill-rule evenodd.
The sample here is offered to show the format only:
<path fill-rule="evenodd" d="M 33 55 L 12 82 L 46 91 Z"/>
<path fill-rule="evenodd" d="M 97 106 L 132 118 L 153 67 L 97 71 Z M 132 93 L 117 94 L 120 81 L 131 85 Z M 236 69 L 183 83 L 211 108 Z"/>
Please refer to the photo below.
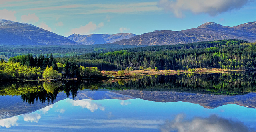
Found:
<path fill-rule="evenodd" d="M 104 81 L 1 82 L 0 118 L 34 112 L 70 98 L 190 102 L 205 108 L 237 104 L 256 108 L 255 73 L 143 76 Z"/>

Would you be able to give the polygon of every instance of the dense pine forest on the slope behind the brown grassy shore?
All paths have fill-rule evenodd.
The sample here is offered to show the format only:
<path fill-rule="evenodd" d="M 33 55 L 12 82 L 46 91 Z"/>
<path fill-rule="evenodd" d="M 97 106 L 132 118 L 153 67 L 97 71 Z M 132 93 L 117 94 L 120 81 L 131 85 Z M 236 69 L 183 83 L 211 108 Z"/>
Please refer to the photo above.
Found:
<path fill-rule="evenodd" d="M 188 69 L 214 67 L 222 69 L 254 69 L 256 43 L 244 40 L 221 40 L 190 44 L 148 46 L 106 53 L 86 53 L 79 56 L 56 58 L 57 62 L 75 60 L 84 67 L 101 70 Z"/>

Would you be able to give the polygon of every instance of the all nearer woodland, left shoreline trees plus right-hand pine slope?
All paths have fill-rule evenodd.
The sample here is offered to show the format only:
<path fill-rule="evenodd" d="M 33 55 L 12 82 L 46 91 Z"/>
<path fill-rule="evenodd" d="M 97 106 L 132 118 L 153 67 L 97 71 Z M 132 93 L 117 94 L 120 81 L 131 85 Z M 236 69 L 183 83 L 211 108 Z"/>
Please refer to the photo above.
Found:
<path fill-rule="evenodd" d="M 50 79 L 101 76 L 113 69 L 186 70 L 200 67 L 255 70 L 256 43 L 220 40 L 148 46 L 84 55 L 18 55 L 0 59 L 0 79 Z"/>

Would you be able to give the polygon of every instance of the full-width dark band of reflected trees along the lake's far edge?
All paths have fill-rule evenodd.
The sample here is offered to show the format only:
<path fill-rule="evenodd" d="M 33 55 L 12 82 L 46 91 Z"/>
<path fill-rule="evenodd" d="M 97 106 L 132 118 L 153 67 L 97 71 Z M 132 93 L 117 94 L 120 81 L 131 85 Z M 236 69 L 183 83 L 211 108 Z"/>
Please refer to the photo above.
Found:
<path fill-rule="evenodd" d="M 255 73 L 181 74 L 142 76 L 104 81 L 0 82 L 0 95 L 20 95 L 24 102 L 53 103 L 59 92 L 75 99 L 79 90 L 145 90 L 243 95 L 256 92 Z"/>

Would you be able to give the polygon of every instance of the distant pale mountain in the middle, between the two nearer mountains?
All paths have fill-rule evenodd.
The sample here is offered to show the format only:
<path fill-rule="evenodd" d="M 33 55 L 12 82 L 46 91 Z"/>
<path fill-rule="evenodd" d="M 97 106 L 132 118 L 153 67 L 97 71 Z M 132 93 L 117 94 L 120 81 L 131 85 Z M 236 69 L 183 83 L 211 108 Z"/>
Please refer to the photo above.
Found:
<path fill-rule="evenodd" d="M 91 44 L 105 44 L 105 43 L 114 43 L 123 39 L 129 39 L 131 37 L 137 36 L 131 33 L 119 33 L 119 34 L 90 34 L 90 35 L 79 35 L 72 34 L 67 38 L 75 41 L 77 43 L 82 43 L 84 45 Z"/>

